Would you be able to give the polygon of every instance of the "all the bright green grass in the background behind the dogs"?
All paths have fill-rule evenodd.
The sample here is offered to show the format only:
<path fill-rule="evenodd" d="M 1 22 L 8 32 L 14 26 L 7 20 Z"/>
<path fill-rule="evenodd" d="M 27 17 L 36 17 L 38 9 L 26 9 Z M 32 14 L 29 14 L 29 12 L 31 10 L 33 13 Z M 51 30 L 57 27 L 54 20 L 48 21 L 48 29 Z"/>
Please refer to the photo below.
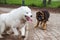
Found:
<path fill-rule="evenodd" d="M 7 4 L 22 4 L 22 0 L 7 0 Z M 41 0 L 25 0 L 25 5 L 34 7 L 43 7 Z M 60 8 L 60 1 L 52 1 L 50 5 L 47 4 L 47 8 Z"/>

